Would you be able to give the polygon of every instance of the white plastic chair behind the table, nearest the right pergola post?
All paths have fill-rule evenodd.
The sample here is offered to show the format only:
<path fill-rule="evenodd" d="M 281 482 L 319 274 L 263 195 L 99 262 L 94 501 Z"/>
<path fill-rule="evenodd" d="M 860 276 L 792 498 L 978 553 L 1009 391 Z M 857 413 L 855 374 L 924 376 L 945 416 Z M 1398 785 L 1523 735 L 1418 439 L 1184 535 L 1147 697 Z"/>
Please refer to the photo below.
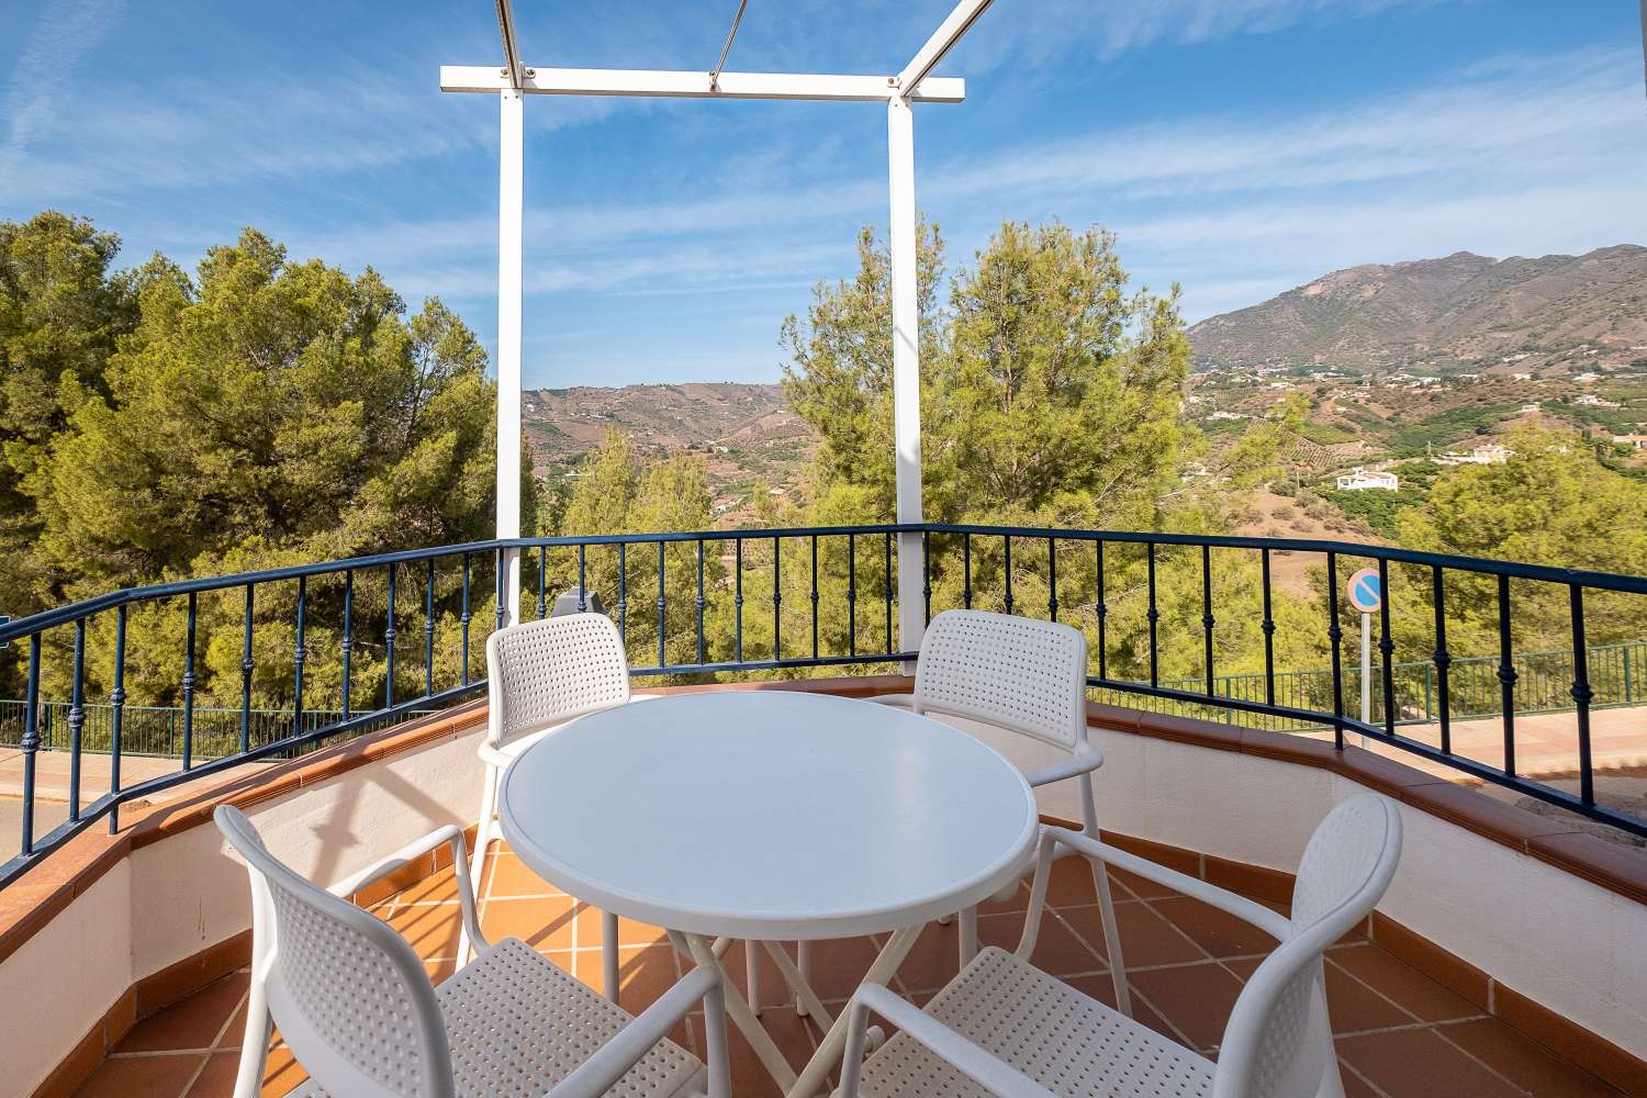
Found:
<path fill-rule="evenodd" d="M 944 611 L 921 639 L 914 693 L 876 701 L 980 721 L 1067 751 L 1069 761 L 1026 779 L 1036 789 L 1071 779 L 1079 782 L 1082 831 L 1099 838 L 1092 772 L 1103 765 L 1103 756 L 1087 739 L 1087 637 L 1079 629 L 1015 614 Z M 1103 938 L 1120 971 L 1115 900 L 1100 863 L 1092 866 L 1092 884 L 1103 909 Z M 960 914 L 959 968 L 965 968 L 977 951 L 978 914 L 972 909 Z M 1122 1014 L 1131 1016 L 1123 979 L 1117 979 L 1115 996 Z"/>

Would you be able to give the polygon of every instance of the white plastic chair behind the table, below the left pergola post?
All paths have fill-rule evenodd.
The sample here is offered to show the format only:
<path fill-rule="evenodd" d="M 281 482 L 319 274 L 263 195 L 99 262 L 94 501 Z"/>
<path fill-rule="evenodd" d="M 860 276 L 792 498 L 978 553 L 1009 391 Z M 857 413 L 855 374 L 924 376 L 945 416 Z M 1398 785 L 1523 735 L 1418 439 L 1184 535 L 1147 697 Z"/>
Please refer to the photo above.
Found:
<path fill-rule="evenodd" d="M 486 848 L 497 838 L 497 780 L 516 756 L 586 713 L 629 701 L 629 658 L 618 626 L 604 614 L 567 614 L 499 629 L 486 639 L 489 713 L 481 817 L 474 833 L 476 881 L 484 881 Z M 464 932 L 458 956 L 469 955 Z M 618 917 L 601 912 L 601 966 L 606 996 L 618 1001 Z"/>

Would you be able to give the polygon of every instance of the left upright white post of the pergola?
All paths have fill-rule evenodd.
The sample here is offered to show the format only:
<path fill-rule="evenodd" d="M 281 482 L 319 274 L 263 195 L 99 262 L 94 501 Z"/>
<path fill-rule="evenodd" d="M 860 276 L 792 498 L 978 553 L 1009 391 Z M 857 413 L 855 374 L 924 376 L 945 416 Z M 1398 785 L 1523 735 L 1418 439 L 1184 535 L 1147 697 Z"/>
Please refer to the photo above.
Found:
<path fill-rule="evenodd" d="M 497 537 L 520 537 L 520 221 L 525 99 L 497 95 Z M 520 553 L 504 553 L 502 622 L 520 614 Z"/>

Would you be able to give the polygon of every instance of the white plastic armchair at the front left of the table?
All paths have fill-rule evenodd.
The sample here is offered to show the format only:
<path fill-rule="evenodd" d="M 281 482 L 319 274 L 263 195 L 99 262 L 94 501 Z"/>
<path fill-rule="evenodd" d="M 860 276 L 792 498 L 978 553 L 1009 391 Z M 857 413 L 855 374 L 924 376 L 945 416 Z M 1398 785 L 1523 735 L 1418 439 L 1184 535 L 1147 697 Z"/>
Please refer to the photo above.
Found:
<path fill-rule="evenodd" d="M 275 859 L 221 805 L 217 828 L 252 879 L 252 984 L 236 1098 L 262 1090 L 270 1026 L 310 1073 L 305 1096 L 730 1098 L 720 975 L 697 968 L 639 1017 L 535 953 L 496 945 L 474 917 L 463 831 L 445 826 L 329 891 Z M 479 955 L 440 988 L 392 927 L 348 902 L 361 886 L 451 844 L 463 922 Z M 703 1003 L 708 1068 L 667 1039 Z"/>

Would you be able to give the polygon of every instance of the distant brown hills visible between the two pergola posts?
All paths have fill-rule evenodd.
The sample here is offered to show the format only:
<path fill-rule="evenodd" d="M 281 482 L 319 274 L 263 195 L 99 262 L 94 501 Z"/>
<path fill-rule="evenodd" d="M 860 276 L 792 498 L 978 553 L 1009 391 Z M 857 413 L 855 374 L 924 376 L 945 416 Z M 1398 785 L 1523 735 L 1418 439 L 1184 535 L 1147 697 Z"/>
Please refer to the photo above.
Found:
<path fill-rule="evenodd" d="M 746 489 L 756 476 L 792 486 L 814 444 L 781 385 L 535 388 L 520 395 L 520 415 L 537 474 L 552 481 L 572 472 L 609 430 L 654 454 L 705 454 L 716 492 Z"/>

